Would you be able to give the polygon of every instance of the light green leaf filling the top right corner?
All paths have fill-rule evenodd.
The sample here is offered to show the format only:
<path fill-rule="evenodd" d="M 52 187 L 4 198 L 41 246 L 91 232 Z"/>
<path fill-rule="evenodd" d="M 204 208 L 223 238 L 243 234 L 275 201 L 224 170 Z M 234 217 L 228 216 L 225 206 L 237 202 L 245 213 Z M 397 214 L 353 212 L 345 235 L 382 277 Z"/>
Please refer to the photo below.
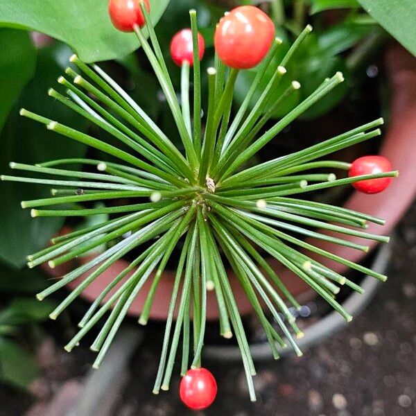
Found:
<path fill-rule="evenodd" d="M 415 0 L 358 0 L 358 2 L 392 37 L 416 55 Z"/>

